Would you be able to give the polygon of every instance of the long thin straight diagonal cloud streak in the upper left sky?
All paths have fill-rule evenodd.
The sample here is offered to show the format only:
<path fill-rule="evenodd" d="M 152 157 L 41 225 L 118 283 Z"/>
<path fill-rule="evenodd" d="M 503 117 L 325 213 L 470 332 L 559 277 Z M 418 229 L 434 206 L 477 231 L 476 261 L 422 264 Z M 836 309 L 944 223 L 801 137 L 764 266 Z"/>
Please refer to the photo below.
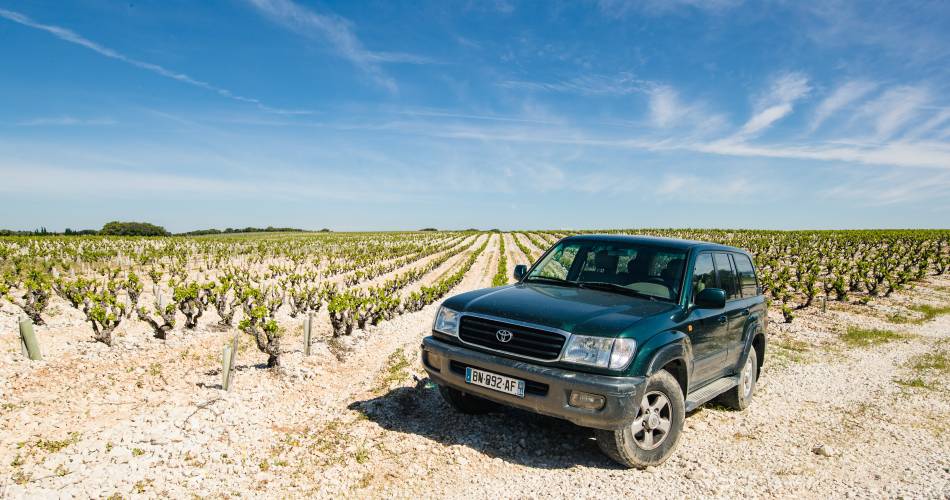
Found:
<path fill-rule="evenodd" d="M 263 102 L 261 102 L 259 99 L 235 94 L 234 92 L 231 92 L 228 89 L 219 87 L 217 85 L 213 85 L 211 83 L 208 83 L 202 80 L 192 78 L 184 73 L 179 73 L 177 71 L 170 70 L 158 64 L 145 62 L 145 61 L 141 61 L 141 60 L 126 56 L 125 54 L 122 54 L 109 47 L 100 45 L 82 35 L 79 35 L 78 33 L 72 30 L 62 28 L 60 26 L 53 26 L 49 24 L 42 24 L 42 23 L 36 22 L 33 19 L 29 18 L 28 16 L 24 14 L 20 14 L 19 12 L 13 12 L 6 9 L 0 9 L 0 17 L 13 21 L 18 24 L 21 24 L 23 26 L 45 31 L 59 38 L 60 40 L 64 40 L 66 42 L 73 43 L 81 47 L 85 47 L 102 56 L 108 57 L 110 59 L 115 59 L 117 61 L 122 61 L 126 64 L 135 66 L 136 68 L 151 71 L 152 73 L 161 75 L 165 78 L 171 78 L 172 80 L 177 80 L 179 82 L 186 83 L 194 87 L 199 87 L 205 90 L 209 90 L 211 92 L 214 92 L 228 99 L 232 99 L 239 102 L 245 102 L 249 104 L 254 104 L 260 109 L 265 110 L 265 111 L 269 111 L 272 113 L 280 113 L 280 114 L 307 113 L 307 111 L 302 111 L 302 110 L 287 110 L 287 109 L 280 109 L 280 108 L 274 108 L 274 107 L 268 106 L 264 104 Z"/>

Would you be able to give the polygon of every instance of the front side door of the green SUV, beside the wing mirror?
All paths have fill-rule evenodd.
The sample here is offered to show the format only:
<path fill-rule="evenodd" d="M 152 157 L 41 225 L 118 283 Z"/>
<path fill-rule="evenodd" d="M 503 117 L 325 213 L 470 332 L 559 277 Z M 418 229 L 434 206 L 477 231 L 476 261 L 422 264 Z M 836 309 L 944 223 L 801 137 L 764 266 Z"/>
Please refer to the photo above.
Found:
<path fill-rule="evenodd" d="M 696 294 L 704 288 L 719 288 L 713 256 L 703 252 L 696 256 L 690 288 L 688 333 L 693 346 L 693 373 L 690 385 L 701 386 L 719 378 L 726 364 L 728 346 L 725 338 L 728 317 L 723 309 L 694 307 Z"/>

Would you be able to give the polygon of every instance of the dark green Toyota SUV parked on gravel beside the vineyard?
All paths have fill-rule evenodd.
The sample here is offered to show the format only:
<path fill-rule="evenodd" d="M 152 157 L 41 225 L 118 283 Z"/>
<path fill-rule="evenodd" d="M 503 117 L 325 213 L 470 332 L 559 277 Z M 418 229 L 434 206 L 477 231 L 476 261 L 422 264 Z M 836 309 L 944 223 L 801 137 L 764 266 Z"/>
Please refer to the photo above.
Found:
<path fill-rule="evenodd" d="M 514 275 L 447 299 L 423 340 L 425 369 L 456 410 L 500 403 L 563 418 L 642 468 L 670 456 L 687 412 L 749 405 L 767 314 L 743 250 L 572 236 Z"/>

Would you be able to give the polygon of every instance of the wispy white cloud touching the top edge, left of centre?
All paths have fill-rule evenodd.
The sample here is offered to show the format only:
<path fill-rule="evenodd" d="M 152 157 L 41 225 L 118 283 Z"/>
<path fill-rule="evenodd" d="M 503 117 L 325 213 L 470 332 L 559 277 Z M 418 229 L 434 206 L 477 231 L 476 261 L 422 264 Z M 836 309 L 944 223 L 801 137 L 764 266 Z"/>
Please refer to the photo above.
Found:
<path fill-rule="evenodd" d="M 329 43 L 337 55 L 350 61 L 382 87 L 396 91 L 396 81 L 387 75 L 380 64 L 429 64 L 427 57 L 402 52 L 374 52 L 366 49 L 353 30 L 353 23 L 332 13 L 317 13 L 292 0 L 247 0 L 272 21 L 308 38 Z"/>

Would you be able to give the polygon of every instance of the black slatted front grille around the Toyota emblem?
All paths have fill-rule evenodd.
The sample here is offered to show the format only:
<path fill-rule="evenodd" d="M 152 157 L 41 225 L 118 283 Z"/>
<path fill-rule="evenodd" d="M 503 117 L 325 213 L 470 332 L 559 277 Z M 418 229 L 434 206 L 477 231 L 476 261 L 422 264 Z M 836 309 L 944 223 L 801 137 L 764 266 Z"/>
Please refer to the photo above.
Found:
<path fill-rule="evenodd" d="M 511 332 L 511 341 L 499 341 L 495 336 L 498 330 Z M 459 338 L 470 344 L 543 360 L 557 359 L 565 340 L 563 335 L 547 330 L 472 316 L 462 316 Z"/>

